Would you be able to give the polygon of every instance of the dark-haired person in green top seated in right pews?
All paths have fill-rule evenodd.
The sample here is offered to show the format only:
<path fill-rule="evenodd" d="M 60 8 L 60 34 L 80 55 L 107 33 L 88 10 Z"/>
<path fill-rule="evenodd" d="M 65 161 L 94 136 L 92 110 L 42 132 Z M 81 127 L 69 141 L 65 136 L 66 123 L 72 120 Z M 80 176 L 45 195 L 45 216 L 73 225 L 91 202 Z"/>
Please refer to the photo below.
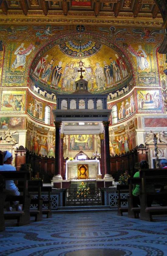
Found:
<path fill-rule="evenodd" d="M 139 166 L 140 166 L 140 169 L 138 172 L 136 172 L 134 174 L 134 178 L 140 178 L 140 171 L 142 169 L 149 169 L 149 165 L 148 165 L 148 162 L 146 160 L 142 160 L 140 163 L 139 163 Z M 149 185 L 147 187 L 147 191 L 150 191 L 150 192 L 154 192 L 154 185 Z M 141 192 L 141 185 L 140 184 L 136 184 L 134 185 L 134 189 L 132 191 L 132 194 L 133 194 L 133 203 L 134 203 L 134 207 L 138 207 L 138 205 L 140 205 L 140 199 L 139 199 L 139 195 L 140 195 L 140 192 Z M 152 198 L 150 197 L 148 199 L 148 207 L 152 205 Z"/>

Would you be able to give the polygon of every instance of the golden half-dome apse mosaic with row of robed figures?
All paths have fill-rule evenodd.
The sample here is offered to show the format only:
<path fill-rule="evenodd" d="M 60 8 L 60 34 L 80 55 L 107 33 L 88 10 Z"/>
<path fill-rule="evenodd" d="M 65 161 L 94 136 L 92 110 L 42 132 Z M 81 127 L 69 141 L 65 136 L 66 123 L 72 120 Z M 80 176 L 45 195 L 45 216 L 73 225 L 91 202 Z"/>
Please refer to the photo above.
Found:
<path fill-rule="evenodd" d="M 119 50 L 89 39 L 73 39 L 54 45 L 32 64 L 36 87 L 58 93 L 75 91 L 75 82 L 88 81 L 90 92 L 106 93 L 131 76 L 127 58 Z M 131 69 L 130 69 L 131 70 Z M 81 72 L 82 71 L 82 72 Z"/>

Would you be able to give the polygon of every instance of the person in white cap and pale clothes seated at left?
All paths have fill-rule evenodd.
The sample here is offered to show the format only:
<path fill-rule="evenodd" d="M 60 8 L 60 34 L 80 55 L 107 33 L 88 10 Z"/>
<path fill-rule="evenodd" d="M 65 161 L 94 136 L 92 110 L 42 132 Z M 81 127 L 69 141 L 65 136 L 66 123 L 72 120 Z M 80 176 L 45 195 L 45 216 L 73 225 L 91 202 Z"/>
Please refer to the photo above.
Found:
<path fill-rule="evenodd" d="M 0 171 L 16 171 L 16 168 L 12 166 L 13 156 L 9 151 L 4 151 L 4 164 L 0 165 Z M 14 180 L 6 180 L 6 192 L 9 195 L 19 196 L 20 192 L 18 187 L 16 187 Z M 19 201 L 14 201 L 13 204 L 15 205 L 16 211 L 22 210 L 22 205 L 19 205 Z M 10 207 L 8 210 L 12 210 Z"/>

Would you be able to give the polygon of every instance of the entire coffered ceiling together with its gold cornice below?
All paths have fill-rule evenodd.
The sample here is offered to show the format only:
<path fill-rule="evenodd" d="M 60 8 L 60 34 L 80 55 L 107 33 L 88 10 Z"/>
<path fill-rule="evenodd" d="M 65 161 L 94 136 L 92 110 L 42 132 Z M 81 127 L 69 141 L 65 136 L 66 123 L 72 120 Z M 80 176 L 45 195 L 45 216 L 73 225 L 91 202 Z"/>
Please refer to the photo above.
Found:
<path fill-rule="evenodd" d="M 154 0 L 2 0 L 0 23 L 87 23 L 161 27 Z"/>

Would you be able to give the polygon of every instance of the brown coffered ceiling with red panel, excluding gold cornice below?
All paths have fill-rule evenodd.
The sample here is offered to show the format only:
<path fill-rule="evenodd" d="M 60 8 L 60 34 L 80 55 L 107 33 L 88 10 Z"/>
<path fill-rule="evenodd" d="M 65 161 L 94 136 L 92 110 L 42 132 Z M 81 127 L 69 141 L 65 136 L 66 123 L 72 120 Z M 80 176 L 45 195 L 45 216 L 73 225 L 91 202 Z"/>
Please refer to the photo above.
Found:
<path fill-rule="evenodd" d="M 80 17 L 117 17 L 159 19 L 160 12 L 154 0 L 3 0 L 2 15 L 64 15 Z M 37 18 L 37 17 L 36 17 Z"/>

